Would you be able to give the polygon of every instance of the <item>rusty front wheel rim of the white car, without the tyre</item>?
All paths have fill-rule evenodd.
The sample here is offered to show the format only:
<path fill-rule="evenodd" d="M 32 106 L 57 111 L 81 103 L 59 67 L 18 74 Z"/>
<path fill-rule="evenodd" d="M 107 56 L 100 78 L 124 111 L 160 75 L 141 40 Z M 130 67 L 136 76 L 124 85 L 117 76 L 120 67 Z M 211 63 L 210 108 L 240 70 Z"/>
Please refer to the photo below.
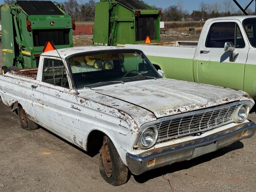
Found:
<path fill-rule="evenodd" d="M 112 176 L 112 162 L 109 152 L 109 147 L 106 141 L 103 142 L 102 145 L 102 160 L 103 160 L 103 166 L 107 177 Z"/>

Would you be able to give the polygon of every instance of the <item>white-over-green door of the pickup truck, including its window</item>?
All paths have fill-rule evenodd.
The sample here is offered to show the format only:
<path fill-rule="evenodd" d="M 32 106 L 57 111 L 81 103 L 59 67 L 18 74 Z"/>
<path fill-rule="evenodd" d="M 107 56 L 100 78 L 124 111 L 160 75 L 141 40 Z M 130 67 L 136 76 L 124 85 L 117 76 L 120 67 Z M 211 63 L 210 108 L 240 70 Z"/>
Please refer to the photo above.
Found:
<path fill-rule="evenodd" d="M 225 19 L 225 22 L 214 20 L 207 28 L 208 35 L 204 38 L 196 57 L 198 60 L 195 66 L 195 80 L 199 83 L 243 90 L 249 45 L 241 23 L 234 19 Z M 224 51 L 225 42 L 233 42 L 233 53 L 238 53 L 235 61 L 230 60 L 230 52 Z"/>

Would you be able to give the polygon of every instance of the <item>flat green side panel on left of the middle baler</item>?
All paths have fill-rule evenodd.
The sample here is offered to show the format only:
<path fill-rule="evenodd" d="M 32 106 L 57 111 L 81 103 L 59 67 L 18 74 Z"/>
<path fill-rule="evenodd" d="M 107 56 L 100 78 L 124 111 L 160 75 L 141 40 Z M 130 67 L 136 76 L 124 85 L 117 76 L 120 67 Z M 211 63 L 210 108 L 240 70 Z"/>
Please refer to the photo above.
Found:
<path fill-rule="evenodd" d="M 109 2 L 96 3 L 94 30 L 93 30 L 93 44 L 94 45 L 108 45 L 109 44 Z"/>

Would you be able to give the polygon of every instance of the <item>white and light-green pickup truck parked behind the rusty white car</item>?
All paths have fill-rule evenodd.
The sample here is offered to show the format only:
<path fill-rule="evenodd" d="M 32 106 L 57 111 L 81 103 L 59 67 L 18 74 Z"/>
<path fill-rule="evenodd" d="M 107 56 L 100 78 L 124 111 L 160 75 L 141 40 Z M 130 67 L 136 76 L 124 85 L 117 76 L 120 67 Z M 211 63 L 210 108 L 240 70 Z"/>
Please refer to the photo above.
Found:
<path fill-rule="evenodd" d="M 166 78 L 243 90 L 256 100 L 256 16 L 207 20 L 195 47 L 125 47 L 142 50 Z"/>

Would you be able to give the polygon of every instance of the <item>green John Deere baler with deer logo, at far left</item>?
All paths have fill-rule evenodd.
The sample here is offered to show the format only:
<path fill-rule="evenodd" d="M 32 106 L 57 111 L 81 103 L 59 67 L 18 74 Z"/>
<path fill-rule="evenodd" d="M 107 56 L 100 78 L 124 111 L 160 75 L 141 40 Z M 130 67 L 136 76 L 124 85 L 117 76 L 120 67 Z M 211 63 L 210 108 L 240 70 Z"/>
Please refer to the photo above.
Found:
<path fill-rule="evenodd" d="M 75 22 L 50 1 L 16 1 L 1 8 L 4 65 L 38 67 L 47 41 L 56 49 L 73 47 Z"/>

